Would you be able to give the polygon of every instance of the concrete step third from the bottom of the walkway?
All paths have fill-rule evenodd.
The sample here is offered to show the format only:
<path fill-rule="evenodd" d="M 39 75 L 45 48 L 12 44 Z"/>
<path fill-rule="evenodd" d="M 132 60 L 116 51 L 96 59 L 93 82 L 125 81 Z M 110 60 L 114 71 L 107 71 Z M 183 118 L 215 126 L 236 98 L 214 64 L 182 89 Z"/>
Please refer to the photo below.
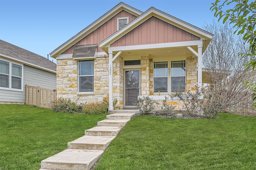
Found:
<path fill-rule="evenodd" d="M 96 126 L 85 130 L 85 135 L 93 136 L 117 136 L 122 127 L 116 126 Z"/>

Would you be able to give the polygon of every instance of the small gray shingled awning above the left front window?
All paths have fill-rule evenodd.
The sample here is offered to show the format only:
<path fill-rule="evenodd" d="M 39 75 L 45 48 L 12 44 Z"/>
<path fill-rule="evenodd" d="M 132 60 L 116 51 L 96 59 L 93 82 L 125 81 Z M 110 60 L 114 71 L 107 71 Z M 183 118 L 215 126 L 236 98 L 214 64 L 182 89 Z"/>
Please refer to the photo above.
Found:
<path fill-rule="evenodd" d="M 76 45 L 72 57 L 94 57 L 97 44 Z"/>

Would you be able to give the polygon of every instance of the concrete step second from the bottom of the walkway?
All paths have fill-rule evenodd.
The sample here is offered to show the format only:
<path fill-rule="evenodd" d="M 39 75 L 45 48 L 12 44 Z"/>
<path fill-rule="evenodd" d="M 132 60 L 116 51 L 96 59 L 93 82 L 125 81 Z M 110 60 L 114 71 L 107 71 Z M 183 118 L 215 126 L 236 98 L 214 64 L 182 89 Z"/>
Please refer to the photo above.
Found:
<path fill-rule="evenodd" d="M 114 136 L 88 136 L 85 135 L 68 143 L 68 149 L 105 150 Z"/>

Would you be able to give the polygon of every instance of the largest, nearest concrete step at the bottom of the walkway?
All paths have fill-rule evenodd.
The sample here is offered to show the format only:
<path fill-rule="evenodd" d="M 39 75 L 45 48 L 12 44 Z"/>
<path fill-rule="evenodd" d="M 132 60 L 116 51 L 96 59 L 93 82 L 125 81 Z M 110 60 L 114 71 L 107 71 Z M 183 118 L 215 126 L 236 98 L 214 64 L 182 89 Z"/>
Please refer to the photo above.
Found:
<path fill-rule="evenodd" d="M 103 150 L 66 149 L 41 161 L 41 169 L 90 170 Z"/>

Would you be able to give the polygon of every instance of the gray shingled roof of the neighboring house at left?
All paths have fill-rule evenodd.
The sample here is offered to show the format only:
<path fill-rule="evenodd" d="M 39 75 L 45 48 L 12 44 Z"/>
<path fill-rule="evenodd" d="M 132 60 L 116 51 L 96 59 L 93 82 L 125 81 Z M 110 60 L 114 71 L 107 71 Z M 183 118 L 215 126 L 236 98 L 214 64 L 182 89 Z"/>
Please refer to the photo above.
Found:
<path fill-rule="evenodd" d="M 34 66 L 42 70 L 46 68 L 47 70 L 54 70 L 56 72 L 56 64 L 52 61 L 0 39 L 0 56 L 1 55 L 12 57 L 13 59 L 24 62 L 26 65 Z"/>

